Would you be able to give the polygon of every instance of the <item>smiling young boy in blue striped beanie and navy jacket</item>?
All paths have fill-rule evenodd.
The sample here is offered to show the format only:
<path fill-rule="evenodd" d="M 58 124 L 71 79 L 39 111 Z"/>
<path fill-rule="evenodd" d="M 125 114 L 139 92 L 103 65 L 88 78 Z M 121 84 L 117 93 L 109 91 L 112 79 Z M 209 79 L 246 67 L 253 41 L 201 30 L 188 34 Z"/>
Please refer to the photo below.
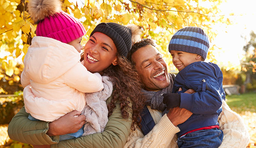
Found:
<path fill-rule="evenodd" d="M 178 147 L 217 148 L 223 139 L 218 115 L 222 111 L 225 93 L 223 75 L 214 63 L 204 62 L 209 51 L 209 38 L 199 27 L 177 31 L 169 43 L 172 61 L 179 70 L 170 94 L 163 94 L 167 109 L 180 107 L 193 113 L 179 124 Z M 179 91 L 182 88 L 182 91 Z M 184 93 L 189 88 L 193 94 Z"/>

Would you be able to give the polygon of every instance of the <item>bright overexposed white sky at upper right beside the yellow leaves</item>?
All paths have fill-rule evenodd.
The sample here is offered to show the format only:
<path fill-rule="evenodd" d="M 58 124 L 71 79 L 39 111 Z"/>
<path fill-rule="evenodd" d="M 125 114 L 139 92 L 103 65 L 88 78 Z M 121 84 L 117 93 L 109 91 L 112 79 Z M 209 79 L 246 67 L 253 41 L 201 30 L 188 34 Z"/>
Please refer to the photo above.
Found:
<path fill-rule="evenodd" d="M 216 25 L 215 29 L 220 31 L 214 43 L 222 48 L 214 51 L 217 64 L 239 66 L 244 57 L 242 48 L 246 44 L 241 36 L 247 36 L 247 40 L 250 40 L 251 30 L 256 32 L 255 0 L 226 0 L 219 8 L 224 15 L 234 13 L 234 16 L 229 17 L 233 24 L 227 28 L 224 25 Z"/>

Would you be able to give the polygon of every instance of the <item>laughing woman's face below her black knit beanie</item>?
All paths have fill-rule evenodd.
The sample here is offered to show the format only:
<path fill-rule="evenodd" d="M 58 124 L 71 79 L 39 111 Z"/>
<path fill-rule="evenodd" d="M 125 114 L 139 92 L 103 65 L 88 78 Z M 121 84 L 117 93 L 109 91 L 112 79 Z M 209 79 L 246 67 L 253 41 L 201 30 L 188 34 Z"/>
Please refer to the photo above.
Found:
<path fill-rule="evenodd" d="M 117 49 L 106 34 L 95 32 L 84 46 L 84 66 L 90 72 L 102 72 L 111 64 L 117 65 Z"/>

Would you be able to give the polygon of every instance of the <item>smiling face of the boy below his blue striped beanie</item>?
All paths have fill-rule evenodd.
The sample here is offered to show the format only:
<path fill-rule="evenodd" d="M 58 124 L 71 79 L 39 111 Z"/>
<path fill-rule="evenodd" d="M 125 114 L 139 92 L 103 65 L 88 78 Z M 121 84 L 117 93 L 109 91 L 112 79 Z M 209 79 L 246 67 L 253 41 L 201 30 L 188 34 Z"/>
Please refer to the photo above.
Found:
<path fill-rule="evenodd" d="M 202 58 L 198 54 L 191 54 L 184 51 L 170 51 L 172 55 L 172 63 L 179 70 L 179 72 L 191 63 L 202 61 Z"/>

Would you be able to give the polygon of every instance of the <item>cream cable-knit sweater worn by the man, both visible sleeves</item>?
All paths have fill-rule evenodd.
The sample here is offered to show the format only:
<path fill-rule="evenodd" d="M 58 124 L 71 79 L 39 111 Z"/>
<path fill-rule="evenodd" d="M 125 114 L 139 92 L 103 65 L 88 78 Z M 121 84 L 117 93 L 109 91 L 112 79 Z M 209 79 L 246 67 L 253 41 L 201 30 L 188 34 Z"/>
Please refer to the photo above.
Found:
<path fill-rule="evenodd" d="M 222 112 L 218 118 L 220 129 L 224 133 L 222 144 L 219 148 L 245 148 L 250 140 L 249 133 L 242 118 L 233 112 L 223 101 Z M 165 114 L 153 110 L 148 106 L 155 127 L 146 136 L 139 128 L 131 130 L 124 148 L 178 148 L 176 144 L 179 128 L 175 127 Z"/>

